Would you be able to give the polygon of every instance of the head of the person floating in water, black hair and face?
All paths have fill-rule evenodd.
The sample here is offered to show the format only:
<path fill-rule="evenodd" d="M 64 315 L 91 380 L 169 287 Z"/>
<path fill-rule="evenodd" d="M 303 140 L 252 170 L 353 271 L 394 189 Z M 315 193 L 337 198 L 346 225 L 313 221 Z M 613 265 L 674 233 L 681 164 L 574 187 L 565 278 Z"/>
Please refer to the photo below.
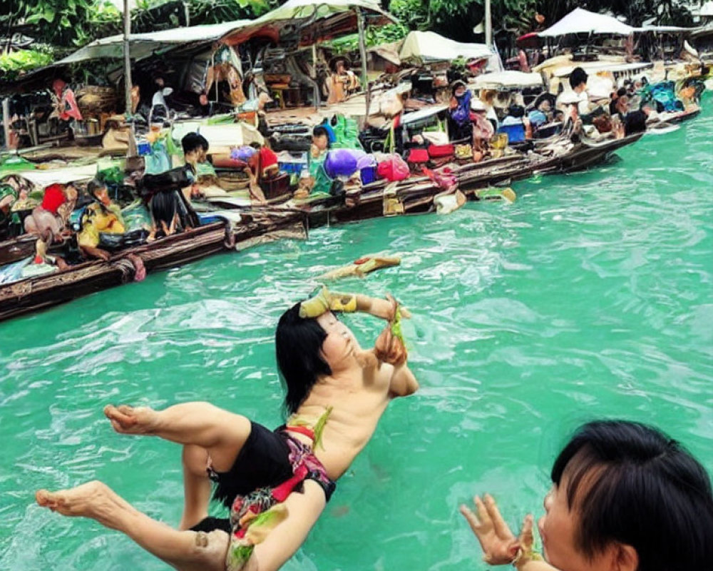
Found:
<path fill-rule="evenodd" d="M 356 346 L 352 333 L 334 313 L 301 318 L 299 305 L 282 314 L 275 331 L 277 368 L 286 389 L 287 413 L 299 408 L 320 377 L 349 366 Z"/>

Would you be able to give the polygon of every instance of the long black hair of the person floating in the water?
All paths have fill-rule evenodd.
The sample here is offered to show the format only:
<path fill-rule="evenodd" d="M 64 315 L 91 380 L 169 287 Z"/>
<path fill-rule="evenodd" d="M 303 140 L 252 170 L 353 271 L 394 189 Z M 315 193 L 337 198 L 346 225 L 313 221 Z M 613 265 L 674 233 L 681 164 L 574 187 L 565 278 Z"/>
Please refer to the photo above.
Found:
<path fill-rule="evenodd" d="M 282 314 L 275 331 L 277 368 L 285 385 L 284 410 L 294 413 L 317 382 L 332 370 L 322 357 L 327 332 L 317 319 L 299 317 L 299 303 Z"/>

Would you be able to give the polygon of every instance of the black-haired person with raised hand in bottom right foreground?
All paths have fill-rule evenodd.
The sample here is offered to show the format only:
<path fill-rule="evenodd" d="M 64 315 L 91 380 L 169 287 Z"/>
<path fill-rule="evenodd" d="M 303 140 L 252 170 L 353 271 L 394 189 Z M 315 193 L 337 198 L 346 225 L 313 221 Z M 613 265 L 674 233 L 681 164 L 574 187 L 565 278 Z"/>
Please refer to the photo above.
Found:
<path fill-rule="evenodd" d="M 624 420 L 580 427 L 552 468 L 533 551 L 533 517 L 513 536 L 486 495 L 466 517 L 490 565 L 518 571 L 692 571 L 713 561 L 713 494 L 702 465 L 655 428 Z"/>

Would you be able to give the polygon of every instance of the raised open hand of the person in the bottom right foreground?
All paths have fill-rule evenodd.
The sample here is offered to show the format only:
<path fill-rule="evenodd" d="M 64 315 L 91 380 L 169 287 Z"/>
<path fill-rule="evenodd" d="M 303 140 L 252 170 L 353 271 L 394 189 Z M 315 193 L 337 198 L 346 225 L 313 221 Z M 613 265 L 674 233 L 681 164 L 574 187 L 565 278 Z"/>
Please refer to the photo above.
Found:
<path fill-rule="evenodd" d="M 520 540 L 515 539 L 508 524 L 503 520 L 493 497 L 486 494 L 483 500 L 477 495 L 473 498 L 478 515 L 466 505 L 461 505 L 461 513 L 478 537 L 483 548 L 483 561 L 490 565 L 507 565 L 518 555 Z M 530 540 L 531 538 L 532 521 L 530 520 Z"/>

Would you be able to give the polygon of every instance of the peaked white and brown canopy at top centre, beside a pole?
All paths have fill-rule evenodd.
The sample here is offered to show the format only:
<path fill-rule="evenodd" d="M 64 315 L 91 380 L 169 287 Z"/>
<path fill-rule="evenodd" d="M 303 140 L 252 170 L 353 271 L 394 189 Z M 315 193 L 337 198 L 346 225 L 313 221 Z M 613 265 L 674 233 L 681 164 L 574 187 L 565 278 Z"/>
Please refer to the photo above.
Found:
<path fill-rule="evenodd" d="M 220 40 L 235 46 L 255 36 L 279 41 L 283 34 L 297 34 L 300 45 L 327 41 L 356 30 L 356 9 L 369 25 L 390 24 L 396 18 L 371 0 L 288 0 L 279 8 L 253 20 L 250 26 L 226 33 Z"/>

